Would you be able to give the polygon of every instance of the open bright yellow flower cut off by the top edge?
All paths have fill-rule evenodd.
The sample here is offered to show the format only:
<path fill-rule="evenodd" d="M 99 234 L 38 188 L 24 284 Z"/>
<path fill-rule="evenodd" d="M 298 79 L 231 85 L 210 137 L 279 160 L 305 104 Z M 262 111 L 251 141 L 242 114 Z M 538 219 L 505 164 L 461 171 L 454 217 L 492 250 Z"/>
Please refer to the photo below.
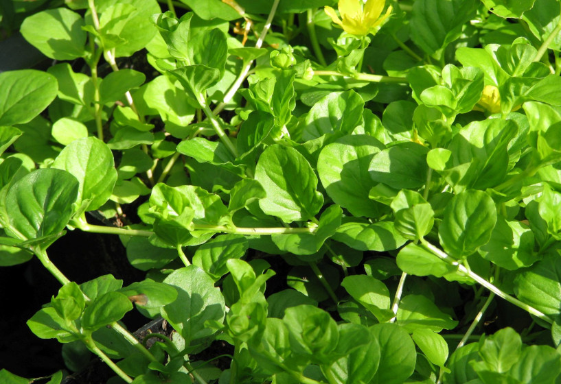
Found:
<path fill-rule="evenodd" d="M 331 7 L 325 7 L 325 13 L 348 34 L 366 36 L 369 33 L 376 34 L 390 16 L 391 6 L 388 7 L 386 14 L 380 17 L 385 2 L 385 0 L 367 0 L 366 3 L 362 0 L 339 0 L 337 8 L 343 21 Z"/>

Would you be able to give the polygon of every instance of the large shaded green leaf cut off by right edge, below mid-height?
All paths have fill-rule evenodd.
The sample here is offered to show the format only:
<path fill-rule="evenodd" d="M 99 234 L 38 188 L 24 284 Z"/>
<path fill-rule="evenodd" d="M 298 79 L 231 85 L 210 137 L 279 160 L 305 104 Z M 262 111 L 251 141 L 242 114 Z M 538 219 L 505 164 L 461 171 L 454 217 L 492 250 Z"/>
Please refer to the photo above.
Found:
<path fill-rule="evenodd" d="M 518 300 L 554 319 L 560 319 L 561 259 L 559 255 L 546 254 L 541 261 L 516 274 L 514 293 Z"/>

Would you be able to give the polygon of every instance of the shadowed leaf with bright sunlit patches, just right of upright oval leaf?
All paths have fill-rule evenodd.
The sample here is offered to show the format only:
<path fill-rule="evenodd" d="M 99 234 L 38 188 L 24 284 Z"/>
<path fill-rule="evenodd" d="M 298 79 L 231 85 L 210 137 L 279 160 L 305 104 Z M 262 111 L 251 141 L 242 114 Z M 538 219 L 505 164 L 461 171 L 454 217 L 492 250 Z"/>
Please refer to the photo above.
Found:
<path fill-rule="evenodd" d="M 529 267 L 540 259 L 534 252 L 534 233 L 520 221 L 507 221 L 498 216 L 488 243 L 479 254 L 499 267 L 511 271 Z"/>

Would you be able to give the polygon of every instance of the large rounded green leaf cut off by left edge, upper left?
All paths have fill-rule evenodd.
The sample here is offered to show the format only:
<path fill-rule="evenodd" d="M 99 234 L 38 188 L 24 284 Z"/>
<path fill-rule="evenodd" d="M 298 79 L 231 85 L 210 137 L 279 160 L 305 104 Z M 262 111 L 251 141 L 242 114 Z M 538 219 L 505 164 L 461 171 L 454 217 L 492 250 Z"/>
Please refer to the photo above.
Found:
<path fill-rule="evenodd" d="M 27 123 L 56 97 L 54 76 L 34 69 L 0 73 L 0 125 Z"/>

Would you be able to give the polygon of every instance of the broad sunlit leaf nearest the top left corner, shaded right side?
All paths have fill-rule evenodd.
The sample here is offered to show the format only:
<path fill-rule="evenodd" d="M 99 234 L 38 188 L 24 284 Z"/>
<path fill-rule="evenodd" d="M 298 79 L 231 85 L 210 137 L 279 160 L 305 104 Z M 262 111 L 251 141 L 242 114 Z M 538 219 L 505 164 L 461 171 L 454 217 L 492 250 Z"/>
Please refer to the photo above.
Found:
<path fill-rule="evenodd" d="M 56 8 L 27 17 L 21 24 L 21 34 L 45 56 L 55 60 L 73 60 L 86 54 L 84 25 L 80 14 Z"/>

